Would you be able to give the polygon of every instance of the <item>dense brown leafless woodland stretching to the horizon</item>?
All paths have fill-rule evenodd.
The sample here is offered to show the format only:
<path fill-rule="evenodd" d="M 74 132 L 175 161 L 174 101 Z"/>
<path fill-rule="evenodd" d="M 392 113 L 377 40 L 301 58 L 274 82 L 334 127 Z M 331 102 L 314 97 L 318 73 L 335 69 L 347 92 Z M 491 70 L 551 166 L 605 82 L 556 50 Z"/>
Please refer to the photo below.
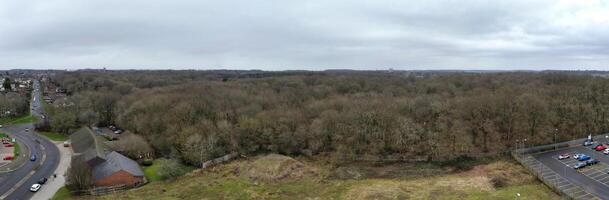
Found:
<path fill-rule="evenodd" d="M 74 103 L 48 106 L 48 128 L 116 124 L 193 165 L 234 151 L 445 161 L 609 129 L 609 79 L 567 72 L 105 71 L 46 84 Z"/>

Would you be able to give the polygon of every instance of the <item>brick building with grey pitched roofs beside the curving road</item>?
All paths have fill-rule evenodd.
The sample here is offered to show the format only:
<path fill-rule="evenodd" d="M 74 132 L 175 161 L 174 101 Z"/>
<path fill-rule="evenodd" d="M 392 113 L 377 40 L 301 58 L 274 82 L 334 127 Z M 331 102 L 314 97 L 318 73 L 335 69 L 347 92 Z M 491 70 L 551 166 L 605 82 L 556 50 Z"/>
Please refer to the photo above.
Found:
<path fill-rule="evenodd" d="M 95 135 L 89 127 L 83 127 L 70 135 L 74 156 L 72 160 L 85 162 L 91 169 L 93 185 L 135 185 L 144 181 L 144 172 L 134 160 L 109 151 L 105 138 Z"/>

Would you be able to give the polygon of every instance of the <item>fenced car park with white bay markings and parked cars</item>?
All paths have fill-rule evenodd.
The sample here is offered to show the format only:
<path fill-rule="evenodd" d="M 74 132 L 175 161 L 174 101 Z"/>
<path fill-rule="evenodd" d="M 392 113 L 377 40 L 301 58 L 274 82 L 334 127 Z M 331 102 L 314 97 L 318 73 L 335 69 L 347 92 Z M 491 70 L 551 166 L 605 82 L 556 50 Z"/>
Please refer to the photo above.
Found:
<path fill-rule="evenodd" d="M 571 157 L 559 160 L 561 154 Z M 586 154 L 599 161 L 598 164 L 573 169 L 580 161 L 575 154 Z M 532 162 L 530 167 L 552 184 L 575 199 L 609 200 L 609 155 L 584 146 L 574 146 L 525 156 Z M 538 163 L 535 163 L 537 161 Z"/>

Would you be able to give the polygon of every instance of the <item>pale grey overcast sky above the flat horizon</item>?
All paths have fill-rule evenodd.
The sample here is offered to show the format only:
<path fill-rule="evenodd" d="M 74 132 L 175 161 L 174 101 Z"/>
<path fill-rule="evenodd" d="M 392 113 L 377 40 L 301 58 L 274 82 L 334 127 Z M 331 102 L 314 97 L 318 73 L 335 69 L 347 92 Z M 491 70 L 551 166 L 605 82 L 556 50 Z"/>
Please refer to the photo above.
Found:
<path fill-rule="evenodd" d="M 609 1 L 0 1 L 0 68 L 85 67 L 609 70 Z"/>

